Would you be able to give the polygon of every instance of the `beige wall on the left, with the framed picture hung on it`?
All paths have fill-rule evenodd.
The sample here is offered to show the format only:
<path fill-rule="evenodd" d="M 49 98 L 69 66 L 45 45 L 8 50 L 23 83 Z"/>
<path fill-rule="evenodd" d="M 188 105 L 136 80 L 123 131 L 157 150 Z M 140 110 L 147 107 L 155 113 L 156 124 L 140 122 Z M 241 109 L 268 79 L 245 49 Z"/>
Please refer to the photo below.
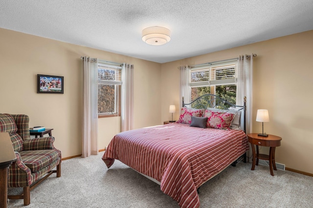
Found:
<path fill-rule="evenodd" d="M 53 128 L 63 157 L 82 153 L 85 55 L 134 64 L 134 128 L 161 124 L 159 63 L 0 28 L 0 113 L 27 114 L 30 126 Z M 37 74 L 64 76 L 64 94 L 37 94 Z M 99 148 L 119 131 L 120 117 L 99 119 Z"/>

